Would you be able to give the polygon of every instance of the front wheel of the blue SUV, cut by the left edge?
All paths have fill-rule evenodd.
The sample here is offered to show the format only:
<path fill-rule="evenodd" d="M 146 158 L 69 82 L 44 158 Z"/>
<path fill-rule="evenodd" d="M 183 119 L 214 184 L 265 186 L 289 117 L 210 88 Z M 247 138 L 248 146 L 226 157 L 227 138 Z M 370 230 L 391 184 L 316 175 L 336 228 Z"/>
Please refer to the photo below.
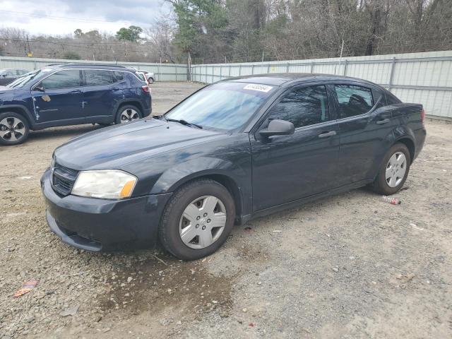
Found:
<path fill-rule="evenodd" d="M 0 114 L 0 145 L 18 145 L 28 138 L 28 121 L 15 112 Z"/>

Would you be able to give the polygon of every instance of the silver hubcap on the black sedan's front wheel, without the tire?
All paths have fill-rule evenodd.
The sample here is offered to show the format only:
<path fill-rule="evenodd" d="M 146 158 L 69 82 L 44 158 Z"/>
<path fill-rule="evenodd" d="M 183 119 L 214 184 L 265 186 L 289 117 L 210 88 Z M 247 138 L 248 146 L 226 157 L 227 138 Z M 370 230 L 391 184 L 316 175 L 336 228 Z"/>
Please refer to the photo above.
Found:
<path fill-rule="evenodd" d="M 186 206 L 179 221 L 182 242 L 204 249 L 220 238 L 226 225 L 226 208 L 215 196 L 201 196 Z"/>

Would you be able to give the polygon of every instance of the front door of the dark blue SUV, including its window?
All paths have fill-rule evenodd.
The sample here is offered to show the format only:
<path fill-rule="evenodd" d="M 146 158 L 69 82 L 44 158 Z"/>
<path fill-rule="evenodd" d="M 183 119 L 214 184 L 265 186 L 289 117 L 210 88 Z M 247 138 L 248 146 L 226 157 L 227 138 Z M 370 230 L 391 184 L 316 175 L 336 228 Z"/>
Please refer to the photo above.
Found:
<path fill-rule="evenodd" d="M 39 90 L 37 90 L 39 89 Z M 83 118 L 81 71 L 66 69 L 53 73 L 32 88 L 38 122 L 79 124 Z"/>

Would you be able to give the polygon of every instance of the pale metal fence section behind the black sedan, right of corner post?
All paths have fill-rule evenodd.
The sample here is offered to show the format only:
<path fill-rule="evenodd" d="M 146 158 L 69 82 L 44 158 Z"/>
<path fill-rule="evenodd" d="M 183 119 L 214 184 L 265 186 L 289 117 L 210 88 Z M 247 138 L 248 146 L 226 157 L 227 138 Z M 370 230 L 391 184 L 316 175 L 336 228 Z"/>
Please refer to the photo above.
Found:
<path fill-rule="evenodd" d="M 231 76 L 262 73 L 328 73 L 362 78 L 391 90 L 403 102 L 422 103 L 427 114 L 452 119 L 452 51 L 343 59 L 203 64 L 192 81 L 213 83 Z"/>

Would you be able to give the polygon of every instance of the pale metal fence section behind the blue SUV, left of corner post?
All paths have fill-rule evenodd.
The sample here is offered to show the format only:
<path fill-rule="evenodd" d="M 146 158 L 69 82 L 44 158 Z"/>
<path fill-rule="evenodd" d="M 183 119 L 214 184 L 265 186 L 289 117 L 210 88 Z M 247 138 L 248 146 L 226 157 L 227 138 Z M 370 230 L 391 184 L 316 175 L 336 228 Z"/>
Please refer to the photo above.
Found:
<path fill-rule="evenodd" d="M 66 59 L 37 59 L 37 58 L 20 58 L 20 57 L 0 57 L 0 69 L 40 69 L 49 64 L 69 64 L 77 63 L 100 63 L 100 64 L 117 64 L 114 61 L 83 61 L 83 60 L 66 60 Z M 155 73 L 156 81 L 186 81 L 187 66 L 185 64 L 147 64 L 141 62 L 121 62 L 120 66 L 135 67 L 142 71 Z"/>

